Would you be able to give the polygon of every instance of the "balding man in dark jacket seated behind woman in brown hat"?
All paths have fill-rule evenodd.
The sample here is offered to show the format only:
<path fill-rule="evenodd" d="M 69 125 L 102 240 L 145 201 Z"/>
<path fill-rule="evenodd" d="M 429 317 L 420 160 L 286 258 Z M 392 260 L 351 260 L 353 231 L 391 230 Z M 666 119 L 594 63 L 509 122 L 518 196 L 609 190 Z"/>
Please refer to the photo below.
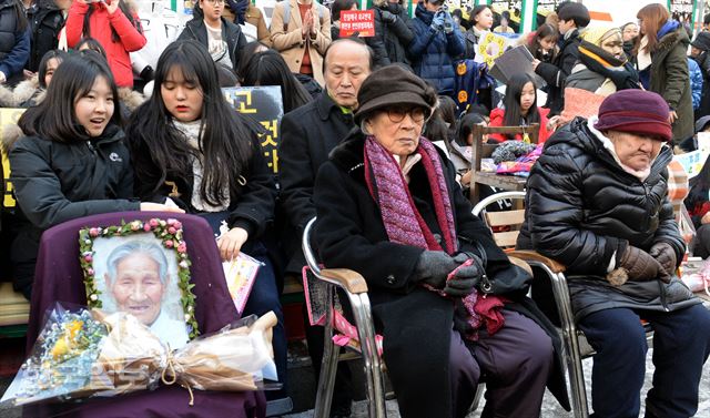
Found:
<path fill-rule="evenodd" d="M 353 112 L 357 109 L 357 92 L 369 75 L 372 50 L 358 39 L 334 41 L 325 52 L 324 78 L 326 91 L 286 115 L 281 122 L 281 207 L 287 217 L 283 243 L 290 257 L 286 273 L 301 275 L 306 264 L 301 251 L 301 235 L 306 223 L 315 216 L 313 185 L 328 153 L 355 128 Z M 306 327 L 308 350 L 316 376 L 323 356 L 322 327 Z M 332 417 L 348 416 L 352 392 L 349 373 L 338 367 Z"/>

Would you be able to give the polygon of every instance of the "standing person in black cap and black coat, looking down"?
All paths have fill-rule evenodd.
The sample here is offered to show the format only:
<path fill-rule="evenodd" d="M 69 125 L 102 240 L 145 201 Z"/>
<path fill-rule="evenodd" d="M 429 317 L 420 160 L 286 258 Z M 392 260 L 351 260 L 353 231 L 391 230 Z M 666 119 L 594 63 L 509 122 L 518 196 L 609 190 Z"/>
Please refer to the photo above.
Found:
<path fill-rule="evenodd" d="M 580 30 L 590 20 L 589 10 L 584 4 L 574 2 L 560 4 L 557 16 L 557 29 L 561 35 L 560 52 L 551 63 L 532 60 L 532 70 L 547 82 L 547 103 L 544 108 L 550 110 L 550 116 L 560 114 L 565 109 L 565 81 L 579 60 Z"/>

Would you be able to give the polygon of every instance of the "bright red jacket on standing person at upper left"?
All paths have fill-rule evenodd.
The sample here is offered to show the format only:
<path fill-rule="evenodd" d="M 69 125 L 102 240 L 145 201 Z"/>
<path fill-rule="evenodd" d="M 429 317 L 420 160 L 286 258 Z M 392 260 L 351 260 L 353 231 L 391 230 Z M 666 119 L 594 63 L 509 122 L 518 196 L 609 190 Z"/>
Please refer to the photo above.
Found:
<path fill-rule="evenodd" d="M 106 3 L 119 0 L 105 0 Z M 93 3 L 87 4 L 74 1 L 69 9 L 67 18 L 67 44 L 74 48 L 83 37 L 84 16 L 89 8 L 94 8 L 89 19 L 91 38 L 101 43 L 106 51 L 109 67 L 113 72 L 113 78 L 119 86 L 133 86 L 133 70 L 131 68 L 131 57 L 129 52 L 138 51 L 145 45 L 145 37 L 141 31 L 131 24 L 129 18 L 121 9 L 116 9 L 113 14 L 109 14 L 105 6 Z M 136 24 L 140 26 L 138 16 L 133 16 Z M 114 41 L 111 28 L 115 30 L 119 40 Z"/>

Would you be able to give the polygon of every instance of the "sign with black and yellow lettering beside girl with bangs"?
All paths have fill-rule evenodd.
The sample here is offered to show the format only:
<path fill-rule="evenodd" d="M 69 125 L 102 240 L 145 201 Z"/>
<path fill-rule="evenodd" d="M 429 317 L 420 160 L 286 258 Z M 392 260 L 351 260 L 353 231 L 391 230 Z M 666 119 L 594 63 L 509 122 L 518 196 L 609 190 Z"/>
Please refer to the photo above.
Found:
<path fill-rule="evenodd" d="M 284 105 L 278 85 L 222 89 L 227 103 L 237 112 L 247 115 L 264 126 L 260 136 L 266 164 L 278 173 L 278 125 L 284 115 Z"/>

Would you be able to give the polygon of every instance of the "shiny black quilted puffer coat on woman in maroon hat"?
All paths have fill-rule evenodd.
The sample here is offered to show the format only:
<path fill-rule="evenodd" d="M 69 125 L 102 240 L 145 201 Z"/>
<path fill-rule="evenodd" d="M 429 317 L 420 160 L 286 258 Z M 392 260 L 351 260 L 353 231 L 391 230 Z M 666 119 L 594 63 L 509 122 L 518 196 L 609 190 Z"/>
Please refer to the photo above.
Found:
<path fill-rule="evenodd" d="M 545 143 L 528 179 L 517 246 L 567 266 L 577 319 L 615 307 L 674 310 L 697 303 L 678 278 L 619 287 L 605 278 L 628 245 L 648 252 L 665 242 L 682 259 L 686 244 L 668 200 L 671 157 L 672 151 L 663 147 L 641 182 L 621 169 L 581 118 Z"/>

